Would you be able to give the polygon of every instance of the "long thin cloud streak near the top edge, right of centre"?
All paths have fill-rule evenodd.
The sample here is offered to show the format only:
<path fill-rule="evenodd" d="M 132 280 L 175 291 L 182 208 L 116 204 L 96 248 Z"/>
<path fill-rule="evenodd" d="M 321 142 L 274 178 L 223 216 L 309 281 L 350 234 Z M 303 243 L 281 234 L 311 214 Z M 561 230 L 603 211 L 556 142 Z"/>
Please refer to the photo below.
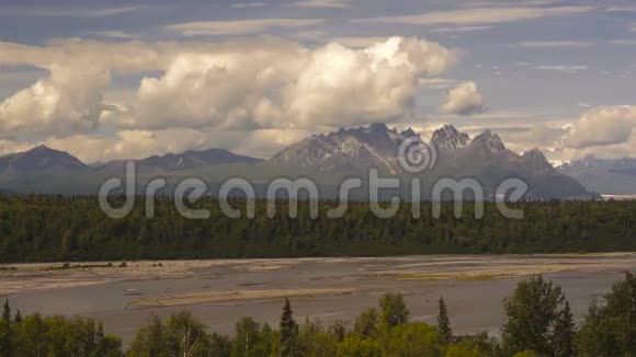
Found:
<path fill-rule="evenodd" d="M 355 19 L 355 23 L 405 23 L 412 25 L 478 25 L 516 22 L 552 16 L 564 16 L 592 11 L 592 7 L 558 7 L 558 8 L 477 8 L 425 12 L 418 15 L 382 16 Z"/>

